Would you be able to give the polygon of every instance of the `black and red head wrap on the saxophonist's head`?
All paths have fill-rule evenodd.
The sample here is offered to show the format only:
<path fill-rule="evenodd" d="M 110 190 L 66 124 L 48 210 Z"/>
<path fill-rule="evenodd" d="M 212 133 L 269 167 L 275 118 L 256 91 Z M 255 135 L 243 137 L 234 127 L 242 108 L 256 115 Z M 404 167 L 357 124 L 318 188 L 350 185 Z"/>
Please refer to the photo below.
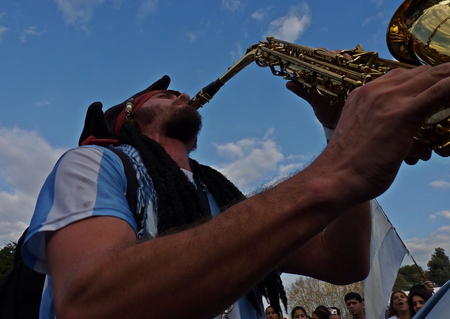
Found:
<path fill-rule="evenodd" d="M 110 144 L 116 144 L 118 132 L 125 120 L 126 103 L 132 102 L 133 107 L 131 114 L 133 114 L 152 95 L 161 91 L 167 91 L 169 84 L 170 78 L 164 75 L 145 90 L 134 94 L 122 103 L 114 105 L 104 113 L 102 111 L 103 105 L 101 102 L 92 103 L 87 109 L 84 127 L 81 136 L 79 137 L 78 146 L 87 144 L 108 146 Z M 177 91 L 170 90 L 170 92 L 174 93 L 176 96 L 180 94 Z"/>

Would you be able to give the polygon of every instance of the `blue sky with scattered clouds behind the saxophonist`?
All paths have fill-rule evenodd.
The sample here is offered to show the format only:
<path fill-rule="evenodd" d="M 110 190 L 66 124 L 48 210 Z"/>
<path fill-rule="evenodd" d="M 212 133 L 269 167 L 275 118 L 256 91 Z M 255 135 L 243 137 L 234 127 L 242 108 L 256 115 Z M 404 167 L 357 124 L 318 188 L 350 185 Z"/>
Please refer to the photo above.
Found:
<path fill-rule="evenodd" d="M 361 44 L 391 59 L 385 31 L 399 0 L 41 0 L 0 3 L 0 244 L 29 222 L 40 185 L 77 145 L 85 111 L 104 109 L 162 75 L 189 94 L 265 36 L 311 47 Z M 285 81 L 252 64 L 200 110 L 192 156 L 244 191 L 306 165 L 325 140 Z M 450 251 L 450 161 L 402 166 L 378 198 L 416 261 Z M 288 234 L 286 234 L 288 235 Z M 408 263 L 408 262 L 406 262 Z"/>

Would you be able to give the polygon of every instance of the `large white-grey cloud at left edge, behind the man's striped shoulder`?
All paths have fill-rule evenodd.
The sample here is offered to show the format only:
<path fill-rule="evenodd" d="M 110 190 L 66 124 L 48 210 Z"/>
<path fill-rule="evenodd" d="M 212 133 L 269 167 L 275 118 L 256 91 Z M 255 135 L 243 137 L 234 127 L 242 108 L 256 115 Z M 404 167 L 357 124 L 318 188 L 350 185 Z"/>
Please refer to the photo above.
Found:
<path fill-rule="evenodd" d="M 0 128 L 0 246 L 17 240 L 26 228 L 48 173 L 62 149 L 54 149 L 36 133 Z"/>

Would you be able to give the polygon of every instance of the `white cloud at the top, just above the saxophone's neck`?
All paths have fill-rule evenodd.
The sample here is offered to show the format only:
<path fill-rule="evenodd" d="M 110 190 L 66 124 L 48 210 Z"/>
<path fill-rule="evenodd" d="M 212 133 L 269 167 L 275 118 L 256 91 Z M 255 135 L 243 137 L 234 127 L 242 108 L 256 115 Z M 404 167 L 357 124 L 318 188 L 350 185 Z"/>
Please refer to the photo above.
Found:
<path fill-rule="evenodd" d="M 290 7 L 286 16 L 269 24 L 267 35 L 294 42 L 306 31 L 311 22 L 311 14 L 306 3 Z"/>

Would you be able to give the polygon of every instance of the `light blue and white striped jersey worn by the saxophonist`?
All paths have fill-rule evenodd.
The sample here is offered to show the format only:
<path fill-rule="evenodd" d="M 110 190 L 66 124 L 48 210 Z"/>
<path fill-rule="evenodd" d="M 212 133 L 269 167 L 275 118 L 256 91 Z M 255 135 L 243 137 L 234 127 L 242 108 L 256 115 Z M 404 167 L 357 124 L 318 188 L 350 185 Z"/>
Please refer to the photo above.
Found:
<path fill-rule="evenodd" d="M 129 145 L 119 147 L 131 160 L 138 180 L 137 211 L 145 214 L 137 226 L 126 200 L 126 177 L 121 160 L 107 148 L 82 146 L 65 152 L 45 180 L 39 193 L 29 231 L 22 246 L 23 260 L 34 270 L 46 273 L 39 317 L 55 318 L 51 276 L 45 254 L 45 232 L 60 229 L 91 216 L 113 216 L 125 220 L 143 240 L 157 235 L 156 194 L 138 152 Z M 190 172 L 184 171 L 193 183 Z M 190 174 L 189 174 L 190 173 Z M 211 213 L 219 207 L 206 192 Z M 235 319 L 258 319 L 246 297 L 233 305 L 229 314 Z M 220 316 L 217 316 L 220 318 Z"/>

